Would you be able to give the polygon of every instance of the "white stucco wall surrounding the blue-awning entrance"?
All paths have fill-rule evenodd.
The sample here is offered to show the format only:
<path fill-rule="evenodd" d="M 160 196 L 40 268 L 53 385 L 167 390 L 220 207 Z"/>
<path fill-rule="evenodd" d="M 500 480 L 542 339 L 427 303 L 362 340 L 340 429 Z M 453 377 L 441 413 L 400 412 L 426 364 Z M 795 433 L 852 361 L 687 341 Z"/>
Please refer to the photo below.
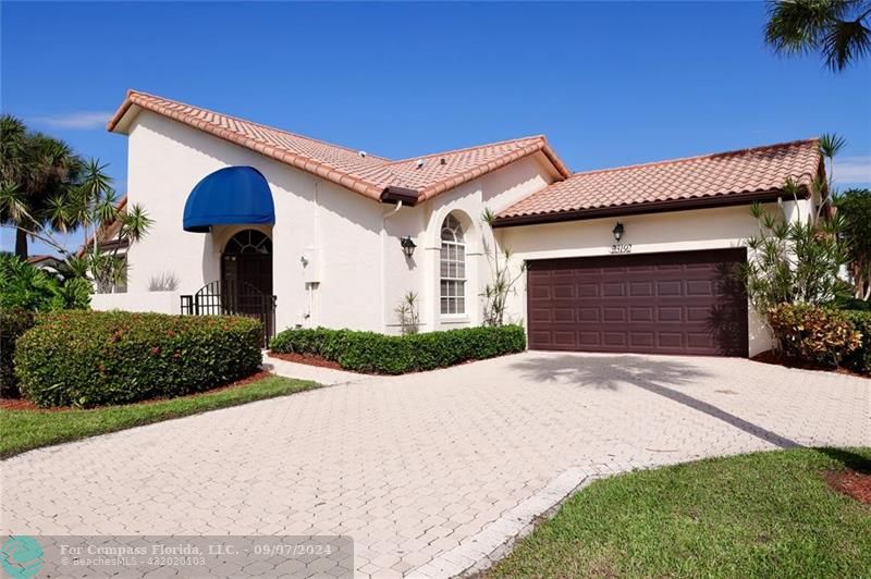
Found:
<path fill-rule="evenodd" d="M 182 294 L 219 279 L 223 245 L 246 227 L 186 233 L 184 204 L 209 173 L 250 165 L 266 176 L 275 204 L 275 224 L 265 231 L 273 245 L 278 329 L 382 329 L 381 287 L 370 282 L 380 268 L 381 204 L 147 111 L 136 118 L 128 147 L 130 202 L 142 204 L 155 220 L 148 235 L 131 248 L 131 294 L 147 292 L 149 279 L 164 272 L 179 279 Z M 311 306 L 300 261 L 310 248 L 319 256 L 315 267 L 320 270 Z"/>

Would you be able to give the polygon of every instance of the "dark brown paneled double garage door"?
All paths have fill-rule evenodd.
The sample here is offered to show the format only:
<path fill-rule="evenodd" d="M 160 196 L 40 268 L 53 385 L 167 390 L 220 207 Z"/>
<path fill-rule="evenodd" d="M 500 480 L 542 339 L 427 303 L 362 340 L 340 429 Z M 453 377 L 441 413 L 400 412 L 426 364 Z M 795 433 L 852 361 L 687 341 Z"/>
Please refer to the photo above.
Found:
<path fill-rule="evenodd" d="M 745 249 L 530 261 L 529 347 L 747 356 Z"/>

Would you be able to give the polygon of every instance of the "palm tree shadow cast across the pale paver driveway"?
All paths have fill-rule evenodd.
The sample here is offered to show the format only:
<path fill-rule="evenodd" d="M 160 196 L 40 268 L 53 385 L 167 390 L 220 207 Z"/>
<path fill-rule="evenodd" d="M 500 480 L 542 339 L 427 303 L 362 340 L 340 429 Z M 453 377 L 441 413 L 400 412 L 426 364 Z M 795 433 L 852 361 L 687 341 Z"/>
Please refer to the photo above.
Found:
<path fill-rule="evenodd" d="M 682 360 L 631 355 L 572 354 L 529 357 L 512 365 L 527 379 L 537 382 L 565 381 L 579 387 L 618 390 L 631 385 L 651 392 L 688 408 L 706 414 L 781 448 L 801 446 L 713 404 L 700 401 L 670 386 L 690 385 L 713 374 L 699 365 Z"/>

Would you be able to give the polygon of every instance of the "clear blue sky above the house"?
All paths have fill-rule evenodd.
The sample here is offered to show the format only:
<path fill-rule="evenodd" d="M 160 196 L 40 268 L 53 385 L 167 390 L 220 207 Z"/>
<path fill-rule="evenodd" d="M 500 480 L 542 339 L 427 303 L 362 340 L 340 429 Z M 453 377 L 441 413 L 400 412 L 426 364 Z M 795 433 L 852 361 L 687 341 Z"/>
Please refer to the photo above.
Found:
<path fill-rule="evenodd" d="M 871 62 L 774 56 L 761 2 L 0 10 L 3 112 L 110 163 L 120 193 L 105 121 L 128 87 L 393 158 L 544 133 L 575 171 L 836 132 L 843 185 L 871 181 Z"/>

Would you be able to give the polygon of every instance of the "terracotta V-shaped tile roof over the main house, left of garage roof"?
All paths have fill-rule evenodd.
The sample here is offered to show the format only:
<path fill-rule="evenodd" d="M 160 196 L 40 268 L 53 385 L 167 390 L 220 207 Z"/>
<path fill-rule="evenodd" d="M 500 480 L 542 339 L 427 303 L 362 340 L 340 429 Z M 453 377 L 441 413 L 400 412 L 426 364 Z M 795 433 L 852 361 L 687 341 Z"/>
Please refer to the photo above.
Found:
<path fill-rule="evenodd" d="M 378 200 L 403 199 L 414 204 L 536 152 L 542 152 L 561 177 L 571 174 L 541 135 L 390 161 L 138 90 L 127 91 L 107 128 L 123 132 L 125 116 L 131 110 L 135 114 L 136 108 L 173 119 Z M 424 161 L 419 168 L 418 159 Z"/>

